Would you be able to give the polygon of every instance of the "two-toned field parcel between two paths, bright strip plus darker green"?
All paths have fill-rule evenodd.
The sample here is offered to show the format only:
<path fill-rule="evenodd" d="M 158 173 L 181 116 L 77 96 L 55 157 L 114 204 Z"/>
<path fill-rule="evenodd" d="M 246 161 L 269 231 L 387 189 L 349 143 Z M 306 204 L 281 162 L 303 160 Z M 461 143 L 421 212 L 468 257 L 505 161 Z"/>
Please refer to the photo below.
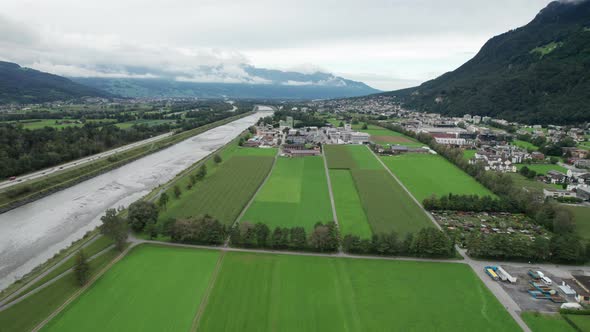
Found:
<path fill-rule="evenodd" d="M 432 226 L 422 208 L 366 146 L 328 145 L 324 148 L 343 235 L 366 236 L 366 222 L 373 234 L 396 231 L 404 235 Z"/>

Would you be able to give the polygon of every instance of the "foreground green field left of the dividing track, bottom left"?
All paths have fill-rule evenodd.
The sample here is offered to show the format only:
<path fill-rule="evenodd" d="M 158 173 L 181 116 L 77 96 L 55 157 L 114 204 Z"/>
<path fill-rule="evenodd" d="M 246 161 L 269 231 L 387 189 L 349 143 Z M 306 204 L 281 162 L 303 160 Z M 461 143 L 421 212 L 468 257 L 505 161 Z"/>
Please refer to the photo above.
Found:
<path fill-rule="evenodd" d="M 219 255 L 135 248 L 42 331 L 189 331 Z"/>

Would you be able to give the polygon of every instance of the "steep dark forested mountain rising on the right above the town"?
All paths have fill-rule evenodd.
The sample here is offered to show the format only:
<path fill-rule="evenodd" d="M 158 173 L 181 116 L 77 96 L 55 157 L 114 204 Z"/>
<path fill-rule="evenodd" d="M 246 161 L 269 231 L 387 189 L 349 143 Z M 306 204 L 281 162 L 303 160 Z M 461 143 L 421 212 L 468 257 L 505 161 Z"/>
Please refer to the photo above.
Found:
<path fill-rule="evenodd" d="M 524 27 L 490 39 L 470 61 L 386 93 L 448 115 L 522 122 L 590 121 L 590 1 L 555 1 Z"/>

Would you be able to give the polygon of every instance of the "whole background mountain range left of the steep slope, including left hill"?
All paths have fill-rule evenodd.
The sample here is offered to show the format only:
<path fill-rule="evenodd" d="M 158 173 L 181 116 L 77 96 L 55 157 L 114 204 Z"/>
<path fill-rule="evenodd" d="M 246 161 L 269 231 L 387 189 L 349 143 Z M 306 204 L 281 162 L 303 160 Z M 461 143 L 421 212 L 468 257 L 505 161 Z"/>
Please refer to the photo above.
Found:
<path fill-rule="evenodd" d="M 149 68 L 136 67 L 126 70 L 133 74 L 139 73 L 137 76 L 149 78 L 65 78 L 21 67 L 16 63 L 0 62 L 0 103 L 40 103 L 85 96 L 328 99 L 379 92 L 362 82 L 329 73 L 306 74 L 249 65 L 241 66 L 242 76 L 236 82 L 232 81 L 235 77 L 223 77 L 224 72 L 220 68 L 199 67 L 199 73 L 205 77 L 211 74 L 215 75 L 216 79 L 227 80 L 221 83 L 200 82 L 202 78 Z M 146 72 L 149 75 L 144 74 Z"/>

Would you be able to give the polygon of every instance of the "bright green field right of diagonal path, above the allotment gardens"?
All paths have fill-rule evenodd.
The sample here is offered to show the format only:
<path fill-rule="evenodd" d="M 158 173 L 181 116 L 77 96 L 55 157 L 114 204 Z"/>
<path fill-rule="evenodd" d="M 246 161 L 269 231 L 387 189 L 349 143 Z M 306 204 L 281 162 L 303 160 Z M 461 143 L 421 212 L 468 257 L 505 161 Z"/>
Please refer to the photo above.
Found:
<path fill-rule="evenodd" d="M 439 155 L 407 153 L 381 157 L 381 160 L 420 202 L 433 194 L 493 196 L 482 184 Z"/>

